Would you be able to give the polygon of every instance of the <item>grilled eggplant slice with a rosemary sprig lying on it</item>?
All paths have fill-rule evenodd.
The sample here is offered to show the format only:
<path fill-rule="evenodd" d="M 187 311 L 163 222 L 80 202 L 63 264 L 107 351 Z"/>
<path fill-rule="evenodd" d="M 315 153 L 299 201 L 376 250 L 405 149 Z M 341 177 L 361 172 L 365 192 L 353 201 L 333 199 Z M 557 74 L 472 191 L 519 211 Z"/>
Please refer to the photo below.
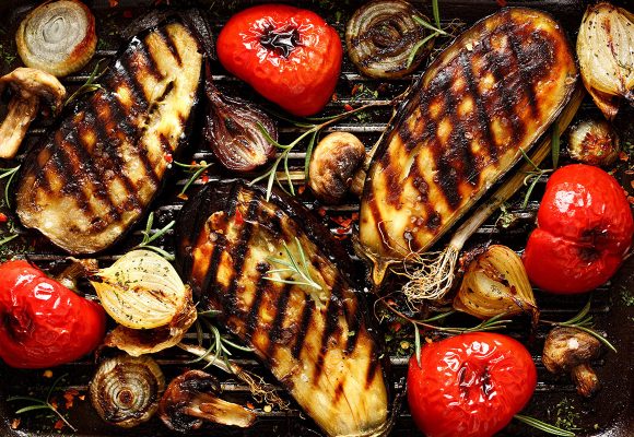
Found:
<path fill-rule="evenodd" d="M 387 390 L 363 296 L 343 273 L 350 258 L 303 205 L 277 191 L 265 199 L 239 181 L 192 198 L 176 228 L 183 276 L 328 435 L 379 435 Z M 291 260 L 284 244 L 302 263 L 296 241 L 321 290 L 273 272 L 283 268 L 273 258 Z"/>

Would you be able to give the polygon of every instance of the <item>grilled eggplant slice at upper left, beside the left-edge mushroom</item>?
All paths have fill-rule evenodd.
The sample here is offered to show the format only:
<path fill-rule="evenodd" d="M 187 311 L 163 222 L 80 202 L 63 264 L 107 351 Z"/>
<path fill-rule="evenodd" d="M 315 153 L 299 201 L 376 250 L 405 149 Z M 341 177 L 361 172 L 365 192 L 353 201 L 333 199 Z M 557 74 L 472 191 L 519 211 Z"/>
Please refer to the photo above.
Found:
<path fill-rule="evenodd" d="M 71 253 L 115 243 L 145 212 L 198 99 L 202 55 L 174 22 L 133 38 L 103 88 L 25 158 L 22 224 Z"/>

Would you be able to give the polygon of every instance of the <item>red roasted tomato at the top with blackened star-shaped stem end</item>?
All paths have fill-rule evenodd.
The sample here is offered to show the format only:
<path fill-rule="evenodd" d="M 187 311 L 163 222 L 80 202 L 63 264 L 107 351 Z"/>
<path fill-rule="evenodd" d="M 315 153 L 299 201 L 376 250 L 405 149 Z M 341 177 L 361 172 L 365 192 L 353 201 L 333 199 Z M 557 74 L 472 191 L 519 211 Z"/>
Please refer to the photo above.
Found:
<path fill-rule="evenodd" d="M 262 4 L 230 19 L 216 44 L 224 68 L 296 116 L 318 113 L 330 99 L 342 48 L 316 13 Z"/>

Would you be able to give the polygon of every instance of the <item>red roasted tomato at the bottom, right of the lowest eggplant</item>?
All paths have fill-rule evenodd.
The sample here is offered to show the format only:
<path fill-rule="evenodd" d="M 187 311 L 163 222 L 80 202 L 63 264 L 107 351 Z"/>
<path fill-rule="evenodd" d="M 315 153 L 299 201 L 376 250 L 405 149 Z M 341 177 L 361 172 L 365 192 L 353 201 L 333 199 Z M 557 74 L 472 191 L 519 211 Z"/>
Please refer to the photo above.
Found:
<path fill-rule="evenodd" d="M 408 401 L 427 437 L 489 437 L 530 400 L 537 370 L 528 351 L 490 332 L 425 344 L 408 371 Z"/>

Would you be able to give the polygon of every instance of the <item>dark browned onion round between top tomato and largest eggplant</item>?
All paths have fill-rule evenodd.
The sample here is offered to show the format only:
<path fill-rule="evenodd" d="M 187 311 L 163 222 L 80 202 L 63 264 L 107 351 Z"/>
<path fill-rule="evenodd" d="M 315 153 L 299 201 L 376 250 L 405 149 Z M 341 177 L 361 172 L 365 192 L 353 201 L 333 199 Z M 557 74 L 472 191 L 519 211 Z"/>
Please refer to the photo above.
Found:
<path fill-rule="evenodd" d="M 354 12 L 345 28 L 348 54 L 361 72 L 371 78 L 394 79 L 412 72 L 430 52 L 433 40 L 409 57 L 425 37 L 412 16 L 421 14 L 403 0 L 375 0 Z"/>

